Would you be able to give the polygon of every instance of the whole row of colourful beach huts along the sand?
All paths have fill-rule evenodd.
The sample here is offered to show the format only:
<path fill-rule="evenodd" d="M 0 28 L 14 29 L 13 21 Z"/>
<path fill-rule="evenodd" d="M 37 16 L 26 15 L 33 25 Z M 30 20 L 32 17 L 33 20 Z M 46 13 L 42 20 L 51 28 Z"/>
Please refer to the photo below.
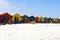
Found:
<path fill-rule="evenodd" d="M 21 16 L 17 13 L 14 15 L 10 15 L 9 13 L 0 14 L 0 25 L 20 23 L 60 23 L 60 19 L 42 16 Z"/>

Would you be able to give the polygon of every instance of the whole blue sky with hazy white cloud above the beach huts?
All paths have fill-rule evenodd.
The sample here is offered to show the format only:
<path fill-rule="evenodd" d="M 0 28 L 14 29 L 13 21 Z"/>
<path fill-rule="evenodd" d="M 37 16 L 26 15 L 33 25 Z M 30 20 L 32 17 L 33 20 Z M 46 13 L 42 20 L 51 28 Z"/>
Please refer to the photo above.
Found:
<path fill-rule="evenodd" d="M 3 12 L 60 18 L 60 0 L 0 0 L 0 14 Z"/>

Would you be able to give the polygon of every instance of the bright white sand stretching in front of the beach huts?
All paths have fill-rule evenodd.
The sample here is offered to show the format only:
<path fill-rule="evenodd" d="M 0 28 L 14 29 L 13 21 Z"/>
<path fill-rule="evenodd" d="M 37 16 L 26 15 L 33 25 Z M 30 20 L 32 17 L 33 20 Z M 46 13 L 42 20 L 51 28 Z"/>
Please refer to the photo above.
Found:
<path fill-rule="evenodd" d="M 3 25 L 0 40 L 60 40 L 60 24 Z"/>

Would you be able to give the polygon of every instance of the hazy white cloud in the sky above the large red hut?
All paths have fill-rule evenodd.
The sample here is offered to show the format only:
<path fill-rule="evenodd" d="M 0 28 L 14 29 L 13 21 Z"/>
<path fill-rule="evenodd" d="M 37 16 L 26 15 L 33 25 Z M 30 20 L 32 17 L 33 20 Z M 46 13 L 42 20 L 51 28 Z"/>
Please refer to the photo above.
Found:
<path fill-rule="evenodd" d="M 18 8 L 6 0 L 0 0 L 0 14 L 2 12 L 16 13 Z"/>

